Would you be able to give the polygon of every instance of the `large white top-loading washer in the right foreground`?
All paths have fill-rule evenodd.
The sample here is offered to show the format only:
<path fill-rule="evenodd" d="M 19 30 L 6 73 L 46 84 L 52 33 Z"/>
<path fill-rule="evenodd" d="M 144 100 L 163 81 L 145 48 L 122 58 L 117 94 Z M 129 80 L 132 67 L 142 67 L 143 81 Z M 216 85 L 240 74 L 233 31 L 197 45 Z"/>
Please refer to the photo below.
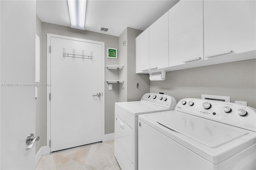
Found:
<path fill-rule="evenodd" d="M 138 118 L 138 169 L 255 170 L 256 110 L 183 99 Z"/>

